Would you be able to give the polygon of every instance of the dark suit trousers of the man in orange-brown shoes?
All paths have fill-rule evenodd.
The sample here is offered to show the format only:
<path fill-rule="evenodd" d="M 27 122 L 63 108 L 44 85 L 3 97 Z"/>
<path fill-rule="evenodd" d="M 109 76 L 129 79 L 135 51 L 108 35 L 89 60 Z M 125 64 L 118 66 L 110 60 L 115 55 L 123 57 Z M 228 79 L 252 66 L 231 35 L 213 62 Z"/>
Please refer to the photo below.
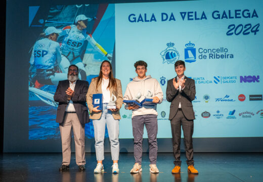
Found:
<path fill-rule="evenodd" d="M 184 143 L 186 149 L 187 165 L 194 165 L 194 149 L 193 149 L 193 132 L 194 121 L 187 120 L 182 111 L 178 111 L 176 116 L 171 120 L 172 149 L 174 155 L 174 165 L 181 166 L 180 160 L 180 143 L 181 143 L 181 126 L 184 131 Z"/>

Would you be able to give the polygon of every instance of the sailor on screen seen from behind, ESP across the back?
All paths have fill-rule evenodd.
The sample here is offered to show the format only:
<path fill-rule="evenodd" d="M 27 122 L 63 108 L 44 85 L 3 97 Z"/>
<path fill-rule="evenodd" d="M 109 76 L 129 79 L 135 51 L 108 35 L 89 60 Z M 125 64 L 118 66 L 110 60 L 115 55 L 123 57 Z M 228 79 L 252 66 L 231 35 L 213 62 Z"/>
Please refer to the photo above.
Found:
<path fill-rule="evenodd" d="M 30 58 L 29 79 L 31 84 L 37 80 L 40 84 L 58 84 L 60 80 L 67 79 L 66 73 L 56 73 L 61 62 L 60 46 L 57 37 L 61 30 L 48 27 L 40 34 L 41 39 L 34 44 Z"/>

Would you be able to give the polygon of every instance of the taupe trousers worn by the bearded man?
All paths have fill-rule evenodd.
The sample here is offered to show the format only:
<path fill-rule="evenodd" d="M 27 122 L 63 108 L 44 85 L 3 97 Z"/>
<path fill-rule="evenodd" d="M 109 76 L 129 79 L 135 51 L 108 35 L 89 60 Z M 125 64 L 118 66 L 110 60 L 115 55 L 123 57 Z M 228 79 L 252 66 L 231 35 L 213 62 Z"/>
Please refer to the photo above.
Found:
<path fill-rule="evenodd" d="M 59 124 L 63 165 L 70 164 L 71 157 L 71 128 L 73 129 L 75 141 L 76 164 L 85 165 L 85 129 L 77 117 L 76 113 L 67 113 L 64 117 L 64 122 Z"/>

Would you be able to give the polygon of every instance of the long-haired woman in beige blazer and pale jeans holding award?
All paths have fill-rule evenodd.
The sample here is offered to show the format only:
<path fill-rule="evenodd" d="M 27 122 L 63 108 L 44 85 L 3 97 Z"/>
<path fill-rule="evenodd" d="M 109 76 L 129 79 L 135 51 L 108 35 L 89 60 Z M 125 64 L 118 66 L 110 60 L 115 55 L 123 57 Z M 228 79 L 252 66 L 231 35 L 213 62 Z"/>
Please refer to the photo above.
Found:
<path fill-rule="evenodd" d="M 103 95 L 103 108 L 98 110 L 92 104 L 93 94 Z M 107 109 L 107 105 L 111 100 L 112 95 L 116 97 L 116 109 Z M 111 63 L 107 60 L 103 61 L 100 67 L 100 74 L 93 78 L 89 90 L 86 95 L 87 106 L 90 110 L 90 118 L 93 119 L 94 135 L 95 135 L 95 149 L 97 166 L 94 169 L 95 173 L 104 171 L 102 161 L 104 160 L 104 138 L 105 125 L 109 133 L 111 157 L 113 160 L 112 172 L 118 173 L 119 160 L 119 110 L 122 106 L 122 89 L 119 79 L 113 77 Z"/>

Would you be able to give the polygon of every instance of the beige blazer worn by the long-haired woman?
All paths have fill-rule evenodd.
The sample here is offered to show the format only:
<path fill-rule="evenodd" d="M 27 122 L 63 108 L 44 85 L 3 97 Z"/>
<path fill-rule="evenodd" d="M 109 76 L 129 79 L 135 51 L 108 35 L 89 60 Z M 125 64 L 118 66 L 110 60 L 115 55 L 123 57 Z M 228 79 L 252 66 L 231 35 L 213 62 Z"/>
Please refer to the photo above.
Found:
<path fill-rule="evenodd" d="M 119 79 L 116 79 L 116 83 L 117 83 L 117 90 L 113 89 L 113 87 L 110 87 L 110 96 L 112 96 L 112 94 L 114 94 L 114 96 L 116 96 L 117 101 L 116 101 L 116 106 L 118 108 L 117 112 L 112 112 L 112 116 L 114 119 L 120 119 L 120 108 L 122 106 L 122 101 L 123 101 L 123 97 L 122 97 L 122 89 L 121 89 L 121 82 Z M 96 89 L 96 84 L 98 81 L 98 77 L 93 78 L 92 82 L 90 84 L 89 90 L 87 90 L 87 95 L 86 95 L 86 102 L 87 102 L 87 107 L 90 110 L 90 119 L 100 119 L 101 118 L 101 113 L 102 112 L 98 112 L 98 113 L 94 113 L 92 112 L 93 110 L 93 105 L 92 105 L 92 96 L 93 94 L 102 94 L 102 89 L 101 89 L 101 83 L 98 85 L 98 88 Z"/>

